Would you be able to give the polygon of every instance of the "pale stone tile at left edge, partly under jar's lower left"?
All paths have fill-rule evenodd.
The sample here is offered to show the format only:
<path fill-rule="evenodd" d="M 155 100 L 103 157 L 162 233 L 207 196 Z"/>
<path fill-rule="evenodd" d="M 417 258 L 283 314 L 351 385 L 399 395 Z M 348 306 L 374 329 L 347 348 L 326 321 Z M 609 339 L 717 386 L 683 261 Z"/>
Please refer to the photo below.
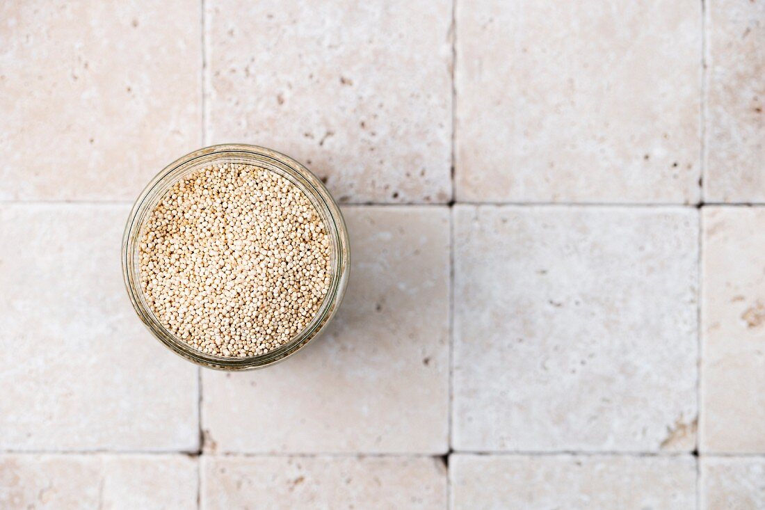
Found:
<path fill-rule="evenodd" d="M 197 369 L 135 316 L 128 206 L 0 206 L 0 449 L 197 450 Z"/>

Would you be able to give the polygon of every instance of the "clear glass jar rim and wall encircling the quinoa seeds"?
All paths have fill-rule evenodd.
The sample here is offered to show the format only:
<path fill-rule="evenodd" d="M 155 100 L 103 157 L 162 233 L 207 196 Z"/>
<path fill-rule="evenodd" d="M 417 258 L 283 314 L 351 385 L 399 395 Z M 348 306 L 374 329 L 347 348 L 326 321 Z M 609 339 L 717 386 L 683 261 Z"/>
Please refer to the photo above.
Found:
<path fill-rule="evenodd" d="M 145 224 L 151 211 L 177 181 L 213 163 L 254 165 L 287 178 L 298 186 L 314 204 L 314 208 L 324 220 L 327 234 L 330 237 L 331 281 L 327 296 L 324 297 L 317 315 L 290 342 L 264 355 L 249 358 L 223 358 L 197 351 L 161 325 L 154 312 L 149 308 L 141 289 L 138 269 L 139 242 L 145 234 Z M 135 201 L 128 223 L 125 225 L 125 235 L 122 237 L 122 276 L 125 279 L 125 287 L 138 317 L 160 342 L 177 355 L 181 355 L 181 357 L 198 365 L 220 370 L 263 368 L 295 354 L 304 345 L 311 342 L 337 312 L 348 282 L 349 271 L 350 244 L 345 222 L 342 214 L 340 214 L 340 208 L 337 207 L 327 188 L 308 168 L 294 159 L 256 145 L 213 145 L 191 152 L 172 162 L 148 183 L 138 200 Z"/>

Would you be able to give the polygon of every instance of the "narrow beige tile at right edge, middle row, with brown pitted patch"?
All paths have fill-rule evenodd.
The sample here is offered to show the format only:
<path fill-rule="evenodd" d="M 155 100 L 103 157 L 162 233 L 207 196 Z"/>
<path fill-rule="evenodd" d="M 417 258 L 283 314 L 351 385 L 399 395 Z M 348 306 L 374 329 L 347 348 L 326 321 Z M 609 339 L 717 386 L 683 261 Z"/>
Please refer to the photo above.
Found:
<path fill-rule="evenodd" d="M 765 208 L 704 208 L 703 451 L 765 453 Z"/>

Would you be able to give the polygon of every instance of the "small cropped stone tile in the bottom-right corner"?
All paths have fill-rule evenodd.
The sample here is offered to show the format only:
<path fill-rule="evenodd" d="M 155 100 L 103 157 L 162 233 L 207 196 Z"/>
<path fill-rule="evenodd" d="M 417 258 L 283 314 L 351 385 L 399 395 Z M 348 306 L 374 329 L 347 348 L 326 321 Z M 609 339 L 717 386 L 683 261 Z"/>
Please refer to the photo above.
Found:
<path fill-rule="evenodd" d="M 765 459 L 702 457 L 702 510 L 765 508 Z"/>

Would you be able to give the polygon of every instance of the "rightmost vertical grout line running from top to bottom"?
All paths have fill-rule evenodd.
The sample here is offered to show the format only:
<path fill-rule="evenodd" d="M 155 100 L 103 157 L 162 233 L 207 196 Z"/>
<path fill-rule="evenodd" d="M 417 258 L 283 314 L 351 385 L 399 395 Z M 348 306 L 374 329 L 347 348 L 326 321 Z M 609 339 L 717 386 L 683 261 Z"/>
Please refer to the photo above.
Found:
<path fill-rule="evenodd" d="M 706 120 L 707 120 L 707 11 L 708 6 L 706 0 L 701 1 L 701 28 L 702 28 L 702 41 L 701 41 L 701 104 L 699 105 L 699 141 L 701 155 L 699 158 L 699 165 L 701 170 L 701 177 L 699 178 L 699 203 L 704 204 L 705 193 L 704 187 L 708 185 L 707 181 L 707 164 L 706 164 Z M 702 270 L 703 252 L 704 252 L 704 211 L 702 208 L 698 209 L 698 253 L 696 261 L 696 278 L 697 278 L 697 300 L 696 300 L 696 342 L 697 342 L 697 359 L 696 359 L 696 437 L 695 437 L 695 463 L 696 463 L 696 510 L 701 510 L 702 499 L 702 458 L 699 456 L 699 450 L 701 449 L 701 433 L 702 433 L 702 363 L 704 360 L 704 338 L 703 338 L 703 326 L 702 326 L 702 303 L 704 299 L 704 272 Z"/>

